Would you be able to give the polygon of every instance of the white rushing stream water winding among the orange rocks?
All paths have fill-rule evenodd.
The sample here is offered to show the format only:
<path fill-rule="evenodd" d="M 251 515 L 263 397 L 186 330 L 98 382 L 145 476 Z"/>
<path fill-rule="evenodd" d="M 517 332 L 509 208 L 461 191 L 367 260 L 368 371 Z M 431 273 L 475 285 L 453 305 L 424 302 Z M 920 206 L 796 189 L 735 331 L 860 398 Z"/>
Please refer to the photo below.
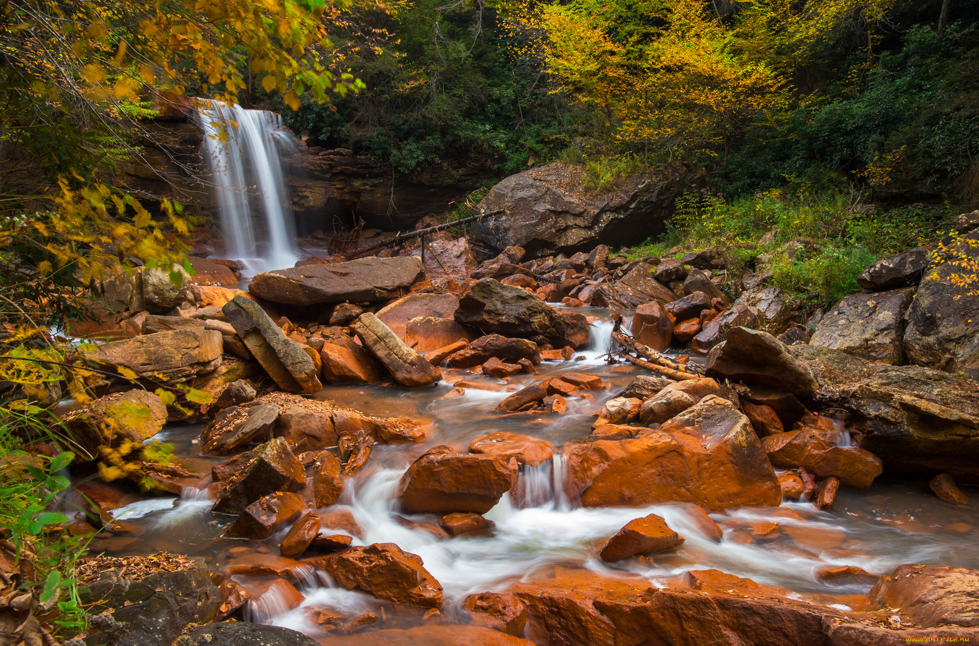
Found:
<path fill-rule="evenodd" d="M 585 310 L 603 315 L 603 310 Z M 449 444 L 465 451 L 473 438 L 511 431 L 546 438 L 560 447 L 565 441 L 588 435 L 594 414 L 615 393 L 642 371 L 630 365 L 607 365 L 611 323 L 592 323 L 593 346 L 575 359 L 544 362 L 537 376 L 520 375 L 500 381 L 468 371 L 446 370 L 443 382 L 424 388 L 327 386 L 315 395 L 383 416 L 406 416 L 430 423 L 432 432 L 421 444 L 376 445 L 366 468 L 347 485 L 338 502 L 349 510 L 363 531 L 353 544 L 393 542 L 422 557 L 425 568 L 443 585 L 443 614 L 461 618 L 462 599 L 473 592 L 503 591 L 514 582 L 532 580 L 555 565 L 579 567 L 607 576 L 624 573 L 648 578 L 665 586 L 689 570 L 718 569 L 760 583 L 787 588 L 806 598 L 823 598 L 826 605 L 846 608 L 846 596 L 865 594 L 869 585 L 834 584 L 816 577 L 816 571 L 838 565 L 858 566 L 873 574 L 889 574 L 903 563 L 935 563 L 974 568 L 979 563 L 979 514 L 972 506 L 953 506 L 931 494 L 922 482 L 878 479 L 868 492 L 840 491 L 831 511 L 822 512 L 809 503 L 786 502 L 779 508 L 742 508 L 712 514 L 723 527 L 723 540 L 704 535 L 681 504 L 636 508 L 585 509 L 571 504 L 561 493 L 564 462 L 560 452 L 537 467 L 524 467 L 516 490 L 522 504 L 504 496 L 486 517 L 495 522 L 490 535 L 444 539 L 426 529 L 435 516 L 403 514 L 396 501 L 398 481 L 408 465 L 426 448 Z M 598 340 L 605 340 L 604 342 Z M 560 416 L 503 416 L 492 411 L 509 392 L 530 384 L 540 375 L 569 370 L 601 376 L 612 387 L 569 398 L 567 413 Z M 452 385 L 465 381 L 465 393 L 442 398 Z M 200 456 L 195 440 L 201 424 L 171 425 L 158 438 L 172 442 L 176 453 L 203 473 L 228 456 Z M 845 444 L 849 438 L 840 437 Z M 207 485 L 185 490 L 179 498 L 135 501 L 117 509 L 129 534 L 98 538 L 93 549 L 116 554 L 148 554 L 160 549 L 206 557 L 220 569 L 245 553 L 278 554 L 285 529 L 264 541 L 220 538 L 233 520 L 210 513 Z M 970 493 L 970 491 L 966 491 Z M 616 565 L 596 559 L 596 547 L 634 518 L 655 513 L 686 541 L 668 553 L 657 554 L 654 563 L 634 559 Z M 404 518 L 413 523 L 405 523 Z M 777 535 L 750 537 L 750 526 L 764 521 L 778 523 Z M 328 528 L 334 529 L 337 528 Z M 303 573 L 297 588 L 305 601 L 290 610 L 281 590 L 261 578 L 237 577 L 256 595 L 246 618 L 276 623 L 320 636 L 311 610 L 347 618 L 363 612 L 382 614 L 386 627 L 410 625 L 420 611 L 396 607 L 369 595 L 334 587 L 327 577 Z M 813 595 L 816 595 L 815 597 Z M 822 595 L 820 597 L 820 595 Z M 833 596 L 828 596 L 833 595 Z M 843 601 L 841 602 L 841 599 Z"/>

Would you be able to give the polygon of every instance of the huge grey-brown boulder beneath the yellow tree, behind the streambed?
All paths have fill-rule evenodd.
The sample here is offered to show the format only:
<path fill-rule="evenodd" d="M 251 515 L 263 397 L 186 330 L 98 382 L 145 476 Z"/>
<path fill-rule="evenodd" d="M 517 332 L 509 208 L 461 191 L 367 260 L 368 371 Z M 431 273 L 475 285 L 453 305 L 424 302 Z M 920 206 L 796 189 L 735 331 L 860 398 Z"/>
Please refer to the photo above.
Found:
<path fill-rule="evenodd" d="M 473 230 L 494 250 L 516 245 L 529 257 L 590 252 L 596 245 L 633 244 L 665 230 L 674 200 L 697 175 L 673 163 L 657 174 L 641 173 L 598 196 L 570 193 L 580 169 L 560 161 L 511 175 L 489 191 Z"/>

